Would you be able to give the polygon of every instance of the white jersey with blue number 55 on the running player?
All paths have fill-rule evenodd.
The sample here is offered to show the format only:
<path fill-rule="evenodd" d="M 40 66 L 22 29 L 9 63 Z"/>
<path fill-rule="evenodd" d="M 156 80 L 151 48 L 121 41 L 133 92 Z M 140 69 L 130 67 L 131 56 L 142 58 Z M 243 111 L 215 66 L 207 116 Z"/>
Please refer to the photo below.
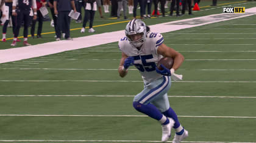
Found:
<path fill-rule="evenodd" d="M 140 71 L 145 84 L 163 76 L 155 71 L 157 62 L 163 58 L 157 53 L 157 49 L 163 41 L 163 36 L 160 33 L 148 32 L 146 42 L 140 50 L 133 48 L 127 37 L 118 42 L 118 47 L 123 53 L 127 56 L 133 56 L 134 65 Z"/>

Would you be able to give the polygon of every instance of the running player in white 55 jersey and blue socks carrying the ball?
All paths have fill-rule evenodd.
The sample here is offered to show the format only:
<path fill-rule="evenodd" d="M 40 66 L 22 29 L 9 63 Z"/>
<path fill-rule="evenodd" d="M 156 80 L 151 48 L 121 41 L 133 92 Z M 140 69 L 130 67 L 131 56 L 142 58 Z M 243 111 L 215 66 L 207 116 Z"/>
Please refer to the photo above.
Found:
<path fill-rule="evenodd" d="M 167 92 L 171 87 L 170 76 L 182 64 L 183 56 L 163 44 L 163 36 L 150 32 L 149 27 L 140 19 L 131 20 L 126 25 L 125 33 L 126 37 L 118 42 L 122 51 L 119 76 L 126 76 L 130 65 L 134 65 L 144 81 L 144 89 L 133 99 L 133 107 L 162 124 L 163 142 L 170 138 L 171 128 L 176 130 L 173 142 L 182 141 L 188 136 L 188 131 L 180 125 L 176 113 L 169 107 Z M 163 65 L 163 70 L 156 67 L 156 63 L 163 57 L 174 59 L 171 70 Z"/>

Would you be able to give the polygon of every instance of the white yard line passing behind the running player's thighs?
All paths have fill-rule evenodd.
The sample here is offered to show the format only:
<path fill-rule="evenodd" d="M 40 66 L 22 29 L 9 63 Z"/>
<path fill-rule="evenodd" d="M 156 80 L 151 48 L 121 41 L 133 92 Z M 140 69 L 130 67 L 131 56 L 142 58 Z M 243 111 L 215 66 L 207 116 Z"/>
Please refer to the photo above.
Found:
<path fill-rule="evenodd" d="M 134 97 L 135 95 L 0 95 L 0 97 Z M 256 98 L 254 96 L 168 96 L 168 98 Z"/>

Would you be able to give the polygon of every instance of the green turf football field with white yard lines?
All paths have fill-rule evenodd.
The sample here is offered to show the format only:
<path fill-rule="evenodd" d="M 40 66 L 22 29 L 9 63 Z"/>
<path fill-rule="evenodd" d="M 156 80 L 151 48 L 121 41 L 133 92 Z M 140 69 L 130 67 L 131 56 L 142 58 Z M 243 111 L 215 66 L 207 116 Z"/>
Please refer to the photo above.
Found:
<path fill-rule="evenodd" d="M 210 4 L 202 1 L 193 16 L 145 22 L 212 15 L 226 6 L 256 7 L 255 1 L 219 1 L 214 9 Z M 93 34 L 127 24 L 108 14 L 97 16 Z M 80 33 L 74 21 L 71 27 L 74 38 L 92 35 Z M 163 33 L 165 44 L 185 57 L 177 70 L 183 81 L 172 82 L 168 92 L 171 107 L 189 131 L 184 142 L 256 142 L 255 30 L 256 15 Z M 29 42 L 54 41 L 49 22 L 43 32 L 42 39 Z M 0 48 L 11 48 L 11 41 L 1 42 Z M 0 142 L 160 142 L 159 122 L 132 107 L 143 89 L 140 73 L 131 67 L 120 78 L 120 58 L 113 42 L 0 64 Z"/>

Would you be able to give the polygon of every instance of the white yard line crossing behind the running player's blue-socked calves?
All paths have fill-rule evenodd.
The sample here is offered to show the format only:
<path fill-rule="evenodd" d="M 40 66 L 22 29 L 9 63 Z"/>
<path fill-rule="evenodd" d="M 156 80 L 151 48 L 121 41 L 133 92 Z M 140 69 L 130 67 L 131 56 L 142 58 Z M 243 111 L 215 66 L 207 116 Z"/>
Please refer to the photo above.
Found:
<path fill-rule="evenodd" d="M 36 117 L 148 117 L 146 115 L 20 115 L 20 114 L 3 114 L 0 116 L 36 116 Z M 252 118 L 249 116 L 178 116 L 180 118 Z"/>

